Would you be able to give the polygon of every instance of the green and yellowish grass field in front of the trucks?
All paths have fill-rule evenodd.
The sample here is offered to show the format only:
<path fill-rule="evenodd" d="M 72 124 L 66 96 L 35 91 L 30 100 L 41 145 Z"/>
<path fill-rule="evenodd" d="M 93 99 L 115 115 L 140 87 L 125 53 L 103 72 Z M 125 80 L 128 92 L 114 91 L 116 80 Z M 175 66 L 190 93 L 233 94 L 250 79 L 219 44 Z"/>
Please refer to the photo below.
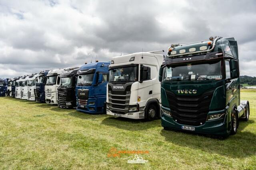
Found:
<path fill-rule="evenodd" d="M 225 140 L 0 98 L 0 169 L 256 169 L 256 93 L 241 96 L 250 121 Z M 138 151 L 148 162 L 128 164 Z"/>

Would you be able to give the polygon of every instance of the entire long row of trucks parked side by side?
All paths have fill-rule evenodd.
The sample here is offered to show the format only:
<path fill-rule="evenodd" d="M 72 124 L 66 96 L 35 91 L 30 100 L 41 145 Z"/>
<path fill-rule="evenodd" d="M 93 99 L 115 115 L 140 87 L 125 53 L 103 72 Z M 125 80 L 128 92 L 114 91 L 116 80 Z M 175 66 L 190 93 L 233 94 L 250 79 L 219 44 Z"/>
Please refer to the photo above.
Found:
<path fill-rule="evenodd" d="M 173 44 L 166 56 L 162 53 L 132 53 L 110 62 L 2 79 L 1 96 L 92 114 L 149 121 L 161 117 L 164 129 L 220 136 L 235 134 L 239 119 L 248 121 L 249 102 L 240 101 L 234 38 Z"/>

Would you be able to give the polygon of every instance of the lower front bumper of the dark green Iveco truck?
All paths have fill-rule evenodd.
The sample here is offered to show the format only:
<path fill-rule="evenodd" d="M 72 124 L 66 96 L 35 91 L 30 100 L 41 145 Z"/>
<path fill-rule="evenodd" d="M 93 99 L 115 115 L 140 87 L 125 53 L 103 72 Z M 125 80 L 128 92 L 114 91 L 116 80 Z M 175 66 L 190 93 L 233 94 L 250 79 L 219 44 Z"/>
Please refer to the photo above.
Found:
<path fill-rule="evenodd" d="M 187 127 L 194 127 L 195 133 L 203 133 L 203 134 L 210 134 L 210 135 L 217 135 L 217 136 L 227 136 L 229 135 L 229 122 L 228 122 L 228 114 L 225 115 L 225 117 L 215 120 L 206 121 L 203 125 L 200 126 L 190 126 L 190 125 L 182 125 L 180 123 L 177 123 L 174 121 L 174 119 L 168 115 L 161 114 L 161 124 L 162 127 L 167 127 L 170 129 L 177 129 L 182 131 L 189 131 L 182 129 L 183 126 Z"/>

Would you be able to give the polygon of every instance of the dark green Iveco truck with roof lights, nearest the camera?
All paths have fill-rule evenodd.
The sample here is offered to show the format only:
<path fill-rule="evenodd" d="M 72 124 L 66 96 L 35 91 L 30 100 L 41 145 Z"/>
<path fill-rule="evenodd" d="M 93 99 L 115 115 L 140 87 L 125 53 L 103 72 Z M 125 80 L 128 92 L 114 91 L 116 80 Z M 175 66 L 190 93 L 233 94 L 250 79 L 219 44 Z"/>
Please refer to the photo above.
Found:
<path fill-rule="evenodd" d="M 234 38 L 171 45 L 159 80 L 164 129 L 227 137 L 236 134 L 239 119 L 249 119 L 249 102 L 240 101 Z"/>

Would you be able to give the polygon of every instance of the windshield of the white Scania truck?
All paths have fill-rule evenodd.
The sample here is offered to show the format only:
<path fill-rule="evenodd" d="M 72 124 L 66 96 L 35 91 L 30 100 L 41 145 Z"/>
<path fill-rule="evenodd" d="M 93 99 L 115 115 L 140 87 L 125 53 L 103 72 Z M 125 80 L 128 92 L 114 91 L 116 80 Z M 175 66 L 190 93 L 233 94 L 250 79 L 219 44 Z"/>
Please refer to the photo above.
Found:
<path fill-rule="evenodd" d="M 110 68 L 110 82 L 134 82 L 138 81 L 138 66 Z"/>

